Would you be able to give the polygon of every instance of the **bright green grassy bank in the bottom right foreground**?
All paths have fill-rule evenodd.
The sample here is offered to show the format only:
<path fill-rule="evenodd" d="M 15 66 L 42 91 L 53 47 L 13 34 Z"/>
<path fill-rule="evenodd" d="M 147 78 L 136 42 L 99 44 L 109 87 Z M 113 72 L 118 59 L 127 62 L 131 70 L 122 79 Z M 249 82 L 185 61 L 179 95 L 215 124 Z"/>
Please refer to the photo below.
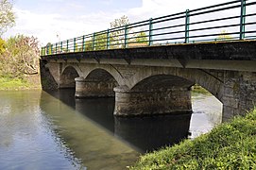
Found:
<path fill-rule="evenodd" d="M 146 154 L 130 169 L 256 169 L 256 110 L 193 141 Z"/>

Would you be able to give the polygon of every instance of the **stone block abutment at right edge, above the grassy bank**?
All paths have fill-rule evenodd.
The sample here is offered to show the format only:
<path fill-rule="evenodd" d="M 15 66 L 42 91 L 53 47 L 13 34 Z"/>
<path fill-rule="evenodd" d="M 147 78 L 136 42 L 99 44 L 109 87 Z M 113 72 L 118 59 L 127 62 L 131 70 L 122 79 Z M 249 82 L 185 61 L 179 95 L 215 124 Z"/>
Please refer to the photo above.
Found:
<path fill-rule="evenodd" d="M 224 122 L 252 110 L 256 106 L 256 73 L 227 71 L 222 103 Z"/>

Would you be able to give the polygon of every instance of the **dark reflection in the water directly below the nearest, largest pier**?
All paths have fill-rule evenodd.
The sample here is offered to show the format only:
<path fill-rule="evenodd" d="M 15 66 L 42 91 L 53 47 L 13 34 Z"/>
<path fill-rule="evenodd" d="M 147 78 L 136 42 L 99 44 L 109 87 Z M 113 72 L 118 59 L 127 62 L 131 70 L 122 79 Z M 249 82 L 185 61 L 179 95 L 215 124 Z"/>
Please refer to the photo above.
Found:
<path fill-rule="evenodd" d="M 143 152 L 177 144 L 188 137 L 191 114 L 114 118 L 114 135 Z"/>

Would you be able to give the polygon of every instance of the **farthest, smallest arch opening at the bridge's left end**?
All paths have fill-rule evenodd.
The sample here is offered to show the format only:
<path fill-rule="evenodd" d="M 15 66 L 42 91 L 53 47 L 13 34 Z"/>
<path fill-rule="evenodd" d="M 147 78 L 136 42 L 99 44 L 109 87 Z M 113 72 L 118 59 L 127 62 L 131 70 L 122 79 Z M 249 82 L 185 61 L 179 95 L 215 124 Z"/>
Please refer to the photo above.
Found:
<path fill-rule="evenodd" d="M 75 78 L 78 76 L 77 70 L 73 66 L 65 67 L 60 76 L 60 88 L 75 88 Z"/>

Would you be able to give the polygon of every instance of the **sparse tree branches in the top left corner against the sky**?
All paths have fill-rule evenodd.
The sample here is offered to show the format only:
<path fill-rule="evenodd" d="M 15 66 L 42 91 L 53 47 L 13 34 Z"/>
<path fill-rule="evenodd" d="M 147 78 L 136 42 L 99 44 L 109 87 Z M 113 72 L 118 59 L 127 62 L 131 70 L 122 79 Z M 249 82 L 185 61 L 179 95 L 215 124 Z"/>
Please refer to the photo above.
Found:
<path fill-rule="evenodd" d="M 8 0 L 0 0 L 0 37 L 14 24 L 15 16 L 12 11 L 12 4 Z"/>

